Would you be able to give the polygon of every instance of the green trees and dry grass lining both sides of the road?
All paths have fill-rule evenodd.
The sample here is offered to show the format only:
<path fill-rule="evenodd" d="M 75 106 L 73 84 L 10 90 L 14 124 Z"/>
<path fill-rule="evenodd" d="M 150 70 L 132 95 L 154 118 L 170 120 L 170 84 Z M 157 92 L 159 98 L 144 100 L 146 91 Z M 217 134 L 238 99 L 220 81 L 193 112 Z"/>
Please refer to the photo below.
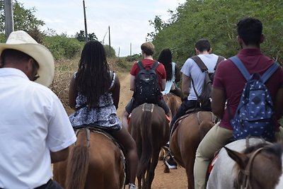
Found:
<path fill-rule="evenodd" d="M 13 1 L 13 20 L 15 30 L 25 30 L 37 42 L 50 49 L 55 59 L 55 76 L 50 88 L 62 100 L 67 112 L 71 110 L 67 103 L 68 86 L 71 74 L 77 69 L 79 56 L 86 39 L 83 30 L 74 36 L 58 34 L 52 28 L 40 30 L 44 21 L 34 16 L 36 7 L 25 8 L 19 1 Z M 168 10 L 171 18 L 163 21 L 156 16 L 149 23 L 154 27 L 147 39 L 155 47 L 155 57 L 163 48 L 170 48 L 173 61 L 182 67 L 185 60 L 195 55 L 195 42 L 207 38 L 212 44 L 212 52 L 224 57 L 236 55 L 239 50 L 236 42 L 236 23 L 243 17 L 255 17 L 263 24 L 265 42 L 262 51 L 281 64 L 283 62 L 283 1 L 282 0 L 187 0 L 176 10 Z M 6 41 L 4 0 L 0 0 L 0 42 Z M 99 40 L 95 31 L 88 34 L 88 40 Z M 115 50 L 105 45 L 110 68 L 117 72 L 129 71 L 132 62 L 141 55 L 116 57 Z"/>

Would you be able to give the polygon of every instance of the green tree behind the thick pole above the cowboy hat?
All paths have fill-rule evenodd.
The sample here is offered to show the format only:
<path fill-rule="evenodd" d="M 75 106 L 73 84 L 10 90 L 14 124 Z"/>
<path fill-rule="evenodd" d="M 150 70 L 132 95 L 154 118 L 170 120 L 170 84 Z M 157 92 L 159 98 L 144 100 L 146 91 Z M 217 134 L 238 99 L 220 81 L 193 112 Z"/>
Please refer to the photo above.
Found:
<path fill-rule="evenodd" d="M 18 1 L 13 1 L 13 22 L 14 30 L 35 30 L 40 26 L 45 25 L 44 21 L 35 18 L 36 8 L 24 8 L 23 4 Z M 4 0 L 0 0 L 0 32 L 5 33 L 5 12 Z"/>

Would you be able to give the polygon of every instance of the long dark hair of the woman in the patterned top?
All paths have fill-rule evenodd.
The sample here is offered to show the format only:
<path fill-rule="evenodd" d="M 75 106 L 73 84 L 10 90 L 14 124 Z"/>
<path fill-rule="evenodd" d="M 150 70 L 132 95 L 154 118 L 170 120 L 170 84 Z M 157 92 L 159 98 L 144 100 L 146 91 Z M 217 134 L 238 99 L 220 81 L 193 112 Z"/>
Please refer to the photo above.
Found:
<path fill-rule="evenodd" d="M 90 108 L 108 91 L 110 82 L 109 65 L 103 45 L 97 40 L 86 42 L 79 60 L 75 86 L 86 96 L 86 103 Z"/>

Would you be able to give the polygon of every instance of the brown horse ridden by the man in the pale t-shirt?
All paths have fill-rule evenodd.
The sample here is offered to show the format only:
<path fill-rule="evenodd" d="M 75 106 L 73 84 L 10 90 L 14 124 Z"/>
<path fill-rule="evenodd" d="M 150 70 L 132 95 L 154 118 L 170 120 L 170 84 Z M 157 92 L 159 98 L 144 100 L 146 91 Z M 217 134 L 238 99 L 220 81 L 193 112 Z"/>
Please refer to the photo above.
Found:
<path fill-rule="evenodd" d="M 187 188 L 195 188 L 195 152 L 204 135 L 214 126 L 215 118 L 211 112 L 199 111 L 176 121 L 178 126 L 171 136 L 170 150 L 178 165 L 186 170 Z"/>

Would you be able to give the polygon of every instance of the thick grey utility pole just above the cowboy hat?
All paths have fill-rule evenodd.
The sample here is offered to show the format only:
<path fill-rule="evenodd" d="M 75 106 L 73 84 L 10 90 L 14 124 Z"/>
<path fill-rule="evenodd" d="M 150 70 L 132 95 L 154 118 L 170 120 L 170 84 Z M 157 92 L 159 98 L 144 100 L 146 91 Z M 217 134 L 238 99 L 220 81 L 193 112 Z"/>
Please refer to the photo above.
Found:
<path fill-rule="evenodd" d="M 5 35 L 8 39 L 8 35 L 13 32 L 13 7 L 11 0 L 4 0 L 5 11 Z"/>

